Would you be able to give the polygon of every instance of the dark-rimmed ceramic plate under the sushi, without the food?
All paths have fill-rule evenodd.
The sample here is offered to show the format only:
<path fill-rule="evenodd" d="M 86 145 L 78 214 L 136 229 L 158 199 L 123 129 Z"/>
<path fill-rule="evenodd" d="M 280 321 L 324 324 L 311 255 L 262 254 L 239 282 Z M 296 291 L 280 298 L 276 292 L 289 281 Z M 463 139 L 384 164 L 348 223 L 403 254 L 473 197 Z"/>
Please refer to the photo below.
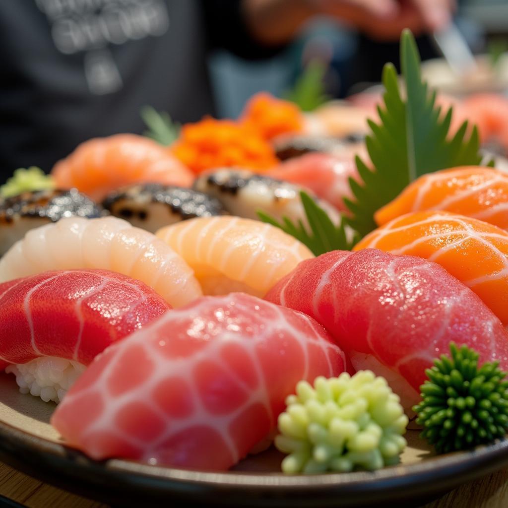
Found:
<path fill-rule="evenodd" d="M 274 449 L 249 456 L 225 473 L 155 467 L 127 460 L 97 462 L 59 439 L 49 425 L 54 404 L 20 394 L 0 374 L 0 461 L 86 497 L 122 506 L 418 506 L 508 465 L 508 441 L 435 457 L 418 431 L 398 466 L 375 472 L 288 476 Z"/>

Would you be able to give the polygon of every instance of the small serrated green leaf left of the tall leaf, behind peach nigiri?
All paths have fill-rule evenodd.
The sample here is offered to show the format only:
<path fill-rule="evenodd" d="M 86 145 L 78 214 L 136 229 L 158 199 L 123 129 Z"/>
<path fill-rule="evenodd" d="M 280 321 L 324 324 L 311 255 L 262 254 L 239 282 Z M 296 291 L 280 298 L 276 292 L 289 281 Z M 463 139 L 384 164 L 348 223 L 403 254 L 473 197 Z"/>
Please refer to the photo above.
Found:
<path fill-rule="evenodd" d="M 300 199 L 310 231 L 301 220 L 294 224 L 288 217 L 282 217 L 282 223 L 279 223 L 275 218 L 262 211 L 258 211 L 258 216 L 263 222 L 280 228 L 300 240 L 312 251 L 314 256 L 319 256 L 330 250 L 351 250 L 358 242 L 358 235 L 353 234 L 350 235 L 353 238 L 347 238 L 345 220 L 341 220 L 341 223 L 336 226 L 326 211 L 303 190 L 300 191 Z"/>

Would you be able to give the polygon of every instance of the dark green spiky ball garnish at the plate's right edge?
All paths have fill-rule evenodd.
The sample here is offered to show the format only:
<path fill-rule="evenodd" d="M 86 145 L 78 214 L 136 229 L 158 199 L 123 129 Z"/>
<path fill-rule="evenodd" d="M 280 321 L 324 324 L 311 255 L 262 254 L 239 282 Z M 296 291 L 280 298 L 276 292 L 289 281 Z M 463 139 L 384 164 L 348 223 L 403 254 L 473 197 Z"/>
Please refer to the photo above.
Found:
<path fill-rule="evenodd" d="M 478 367 L 479 355 L 450 344 L 427 369 L 422 402 L 413 407 L 421 434 L 438 453 L 468 450 L 503 437 L 508 430 L 508 381 L 498 362 Z"/>

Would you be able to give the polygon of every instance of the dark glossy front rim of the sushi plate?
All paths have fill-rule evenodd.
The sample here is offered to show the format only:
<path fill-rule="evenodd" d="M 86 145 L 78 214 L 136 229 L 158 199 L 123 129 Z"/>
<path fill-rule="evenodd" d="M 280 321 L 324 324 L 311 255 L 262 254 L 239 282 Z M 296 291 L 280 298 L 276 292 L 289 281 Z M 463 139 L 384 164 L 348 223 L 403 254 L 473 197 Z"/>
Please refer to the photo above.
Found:
<path fill-rule="evenodd" d="M 153 489 L 154 495 L 173 494 L 181 500 L 201 502 L 211 492 L 220 491 L 232 496 L 232 504 L 227 502 L 225 505 L 236 505 L 239 498 L 235 496 L 244 496 L 249 491 L 258 498 L 259 505 L 264 506 L 277 505 L 273 502 L 281 494 L 284 494 L 284 502 L 291 500 L 293 506 L 299 505 L 297 501 L 302 495 L 315 495 L 320 502 L 323 501 L 322 504 L 316 502 L 315 506 L 327 505 L 326 501 L 331 501 L 332 497 L 336 506 L 345 506 L 337 504 L 337 496 L 353 496 L 351 505 L 355 505 L 355 496 L 362 498 L 363 502 L 378 495 L 397 499 L 404 497 L 401 489 L 405 488 L 421 495 L 444 493 L 508 465 L 508 439 L 503 438 L 469 452 L 435 456 L 415 464 L 399 464 L 372 472 L 288 475 L 281 472 L 195 471 L 124 459 L 94 461 L 63 443 L 31 434 L 0 420 L 0 460 L 47 483 L 88 497 L 90 486 L 99 487 L 96 491 L 99 494 L 104 482 L 112 481 L 117 488 L 125 488 L 130 494 L 141 489 L 146 496 L 147 489 Z M 38 462 L 49 466 L 39 471 L 34 469 Z M 63 478 L 51 478 L 51 474 L 62 472 L 62 465 L 69 467 L 63 471 Z M 193 489 L 192 493 L 189 493 L 189 488 Z M 108 501 L 104 493 L 93 497 Z M 269 503 L 267 498 L 271 499 Z"/>

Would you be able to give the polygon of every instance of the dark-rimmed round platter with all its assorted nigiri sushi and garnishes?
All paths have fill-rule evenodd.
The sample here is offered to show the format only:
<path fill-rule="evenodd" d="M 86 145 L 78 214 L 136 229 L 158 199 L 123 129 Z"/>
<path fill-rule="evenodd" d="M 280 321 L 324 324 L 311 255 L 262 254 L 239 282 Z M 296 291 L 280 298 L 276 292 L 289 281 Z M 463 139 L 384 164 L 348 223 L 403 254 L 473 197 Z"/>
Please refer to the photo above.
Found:
<path fill-rule="evenodd" d="M 401 48 L 382 96 L 16 170 L 0 461 L 122 506 L 416 506 L 508 466 L 508 101 Z"/>

